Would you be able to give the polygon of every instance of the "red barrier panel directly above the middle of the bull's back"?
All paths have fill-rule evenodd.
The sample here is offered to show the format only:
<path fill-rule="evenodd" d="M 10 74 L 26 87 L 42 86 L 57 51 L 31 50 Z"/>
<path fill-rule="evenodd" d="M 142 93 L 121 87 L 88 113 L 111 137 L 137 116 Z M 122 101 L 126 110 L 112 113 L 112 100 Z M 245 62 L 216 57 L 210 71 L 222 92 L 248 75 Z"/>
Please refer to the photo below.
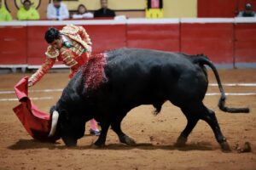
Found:
<path fill-rule="evenodd" d="M 135 24 L 135 22 L 137 22 Z M 151 21 L 152 22 L 152 21 Z M 127 25 L 127 47 L 149 48 L 163 51 L 179 51 L 178 20 L 166 20 L 165 24 L 133 20 Z"/>

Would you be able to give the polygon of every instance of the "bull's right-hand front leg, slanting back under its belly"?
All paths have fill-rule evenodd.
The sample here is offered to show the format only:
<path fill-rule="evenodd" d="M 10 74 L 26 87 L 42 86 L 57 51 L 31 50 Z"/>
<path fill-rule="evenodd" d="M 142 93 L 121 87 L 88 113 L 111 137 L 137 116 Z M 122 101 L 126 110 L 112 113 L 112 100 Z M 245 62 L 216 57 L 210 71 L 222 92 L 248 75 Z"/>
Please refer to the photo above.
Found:
<path fill-rule="evenodd" d="M 121 115 L 121 114 L 119 114 Z M 125 133 L 123 133 L 121 129 L 121 122 L 123 120 L 124 116 L 119 116 L 113 120 L 111 123 L 111 127 L 113 129 L 113 132 L 117 133 L 119 136 L 119 141 L 123 144 L 127 145 L 136 145 L 136 142 L 134 139 L 131 139 L 129 136 L 127 136 Z"/>

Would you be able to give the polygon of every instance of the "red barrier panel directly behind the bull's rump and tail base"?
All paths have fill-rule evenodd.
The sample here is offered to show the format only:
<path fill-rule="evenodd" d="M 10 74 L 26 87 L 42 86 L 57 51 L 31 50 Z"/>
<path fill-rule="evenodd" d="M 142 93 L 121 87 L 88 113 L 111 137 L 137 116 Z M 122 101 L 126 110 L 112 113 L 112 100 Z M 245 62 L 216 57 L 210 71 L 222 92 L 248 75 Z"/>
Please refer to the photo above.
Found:
<path fill-rule="evenodd" d="M 206 54 L 213 62 L 232 64 L 233 23 L 201 21 L 196 23 L 182 20 L 181 51 L 188 54 Z"/>

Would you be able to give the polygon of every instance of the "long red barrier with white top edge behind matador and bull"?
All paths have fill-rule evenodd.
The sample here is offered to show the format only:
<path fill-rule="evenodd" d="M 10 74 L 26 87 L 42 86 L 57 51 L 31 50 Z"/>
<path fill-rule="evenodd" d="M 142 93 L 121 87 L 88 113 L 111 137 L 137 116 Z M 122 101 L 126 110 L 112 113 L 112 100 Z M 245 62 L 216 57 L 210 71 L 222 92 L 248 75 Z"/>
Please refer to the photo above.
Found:
<path fill-rule="evenodd" d="M 93 53 L 113 48 L 150 48 L 206 54 L 215 63 L 256 63 L 255 19 L 67 20 L 51 21 L 61 29 L 84 26 Z M 49 21 L 0 23 L 0 66 L 41 65 L 48 44 Z M 60 64 L 60 63 L 59 63 Z"/>

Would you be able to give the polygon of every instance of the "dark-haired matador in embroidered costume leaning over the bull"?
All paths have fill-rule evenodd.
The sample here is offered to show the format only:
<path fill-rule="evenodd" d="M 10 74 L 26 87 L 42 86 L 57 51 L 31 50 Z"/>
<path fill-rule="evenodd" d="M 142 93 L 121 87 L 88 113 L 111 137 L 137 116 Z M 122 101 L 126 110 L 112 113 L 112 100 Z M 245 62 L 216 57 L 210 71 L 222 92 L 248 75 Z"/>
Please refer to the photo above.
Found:
<path fill-rule="evenodd" d="M 36 84 L 55 61 L 61 61 L 70 67 L 69 79 L 86 64 L 91 54 L 91 41 L 83 26 L 64 26 L 61 31 L 49 28 L 45 32 L 44 39 L 49 43 L 44 64 L 28 79 L 28 87 Z M 94 119 L 90 120 L 90 134 L 100 135 Z"/>

